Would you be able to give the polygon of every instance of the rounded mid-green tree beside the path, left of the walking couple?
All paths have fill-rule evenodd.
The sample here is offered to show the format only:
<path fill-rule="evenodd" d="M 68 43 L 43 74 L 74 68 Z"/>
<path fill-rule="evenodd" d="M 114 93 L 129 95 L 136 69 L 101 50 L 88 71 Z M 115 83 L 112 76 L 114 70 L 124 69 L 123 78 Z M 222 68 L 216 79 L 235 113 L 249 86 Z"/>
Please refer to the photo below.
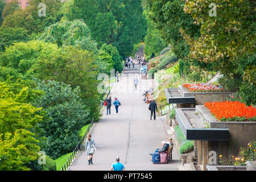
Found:
<path fill-rule="evenodd" d="M 100 114 L 100 94 L 97 92 L 98 65 L 92 53 L 65 46 L 49 54 L 40 55 L 33 67 L 35 76 L 41 80 L 55 80 L 80 86 L 81 98 L 90 110 L 91 118 Z"/>

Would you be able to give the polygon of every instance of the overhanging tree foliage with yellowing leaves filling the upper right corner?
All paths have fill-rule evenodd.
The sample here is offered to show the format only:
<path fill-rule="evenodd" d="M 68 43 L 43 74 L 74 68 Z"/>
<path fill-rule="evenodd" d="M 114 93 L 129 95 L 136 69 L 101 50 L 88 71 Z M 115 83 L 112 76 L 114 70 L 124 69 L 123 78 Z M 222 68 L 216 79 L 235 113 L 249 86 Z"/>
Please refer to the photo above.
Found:
<path fill-rule="evenodd" d="M 214 3 L 217 15 L 210 16 L 213 9 L 208 1 L 147 0 L 148 17 L 182 59 L 180 76 L 199 81 L 200 71 L 220 72 L 222 86 L 238 91 L 247 105 L 256 104 L 251 97 L 255 92 L 255 4 L 250 0 Z"/>

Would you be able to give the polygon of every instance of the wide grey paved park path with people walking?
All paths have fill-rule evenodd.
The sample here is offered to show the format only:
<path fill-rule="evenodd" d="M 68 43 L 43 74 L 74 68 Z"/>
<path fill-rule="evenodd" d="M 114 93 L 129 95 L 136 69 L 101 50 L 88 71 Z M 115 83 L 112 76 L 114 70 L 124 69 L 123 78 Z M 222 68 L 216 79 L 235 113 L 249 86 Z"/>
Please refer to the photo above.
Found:
<path fill-rule="evenodd" d="M 133 78 L 139 78 L 137 91 L 134 90 Z M 93 155 L 93 165 L 88 165 L 84 147 L 74 160 L 70 170 L 77 171 L 108 171 L 116 156 L 132 171 L 178 170 L 180 164 L 176 146 L 172 154 L 172 162 L 168 164 L 152 164 L 150 152 L 160 148 L 161 142 L 167 140 L 166 117 L 156 117 L 150 120 L 148 105 L 142 101 L 143 90 L 148 89 L 154 80 L 142 80 L 139 76 L 139 65 L 134 69 L 123 71 L 119 82 L 114 86 L 111 96 L 117 97 L 122 106 L 115 114 L 114 106 L 111 115 L 102 112 L 100 121 L 94 124 L 91 131 L 96 142 L 97 151 Z"/>

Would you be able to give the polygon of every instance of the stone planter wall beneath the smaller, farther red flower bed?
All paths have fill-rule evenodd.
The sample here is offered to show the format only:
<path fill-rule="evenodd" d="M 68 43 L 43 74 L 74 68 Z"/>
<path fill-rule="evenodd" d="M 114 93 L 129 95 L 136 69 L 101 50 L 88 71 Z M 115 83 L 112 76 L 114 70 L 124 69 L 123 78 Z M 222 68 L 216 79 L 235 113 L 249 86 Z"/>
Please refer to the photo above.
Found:
<path fill-rule="evenodd" d="M 204 105 L 205 102 L 226 101 L 232 96 L 232 92 L 190 92 L 182 85 L 178 86 L 181 97 L 195 97 L 196 105 Z"/>

